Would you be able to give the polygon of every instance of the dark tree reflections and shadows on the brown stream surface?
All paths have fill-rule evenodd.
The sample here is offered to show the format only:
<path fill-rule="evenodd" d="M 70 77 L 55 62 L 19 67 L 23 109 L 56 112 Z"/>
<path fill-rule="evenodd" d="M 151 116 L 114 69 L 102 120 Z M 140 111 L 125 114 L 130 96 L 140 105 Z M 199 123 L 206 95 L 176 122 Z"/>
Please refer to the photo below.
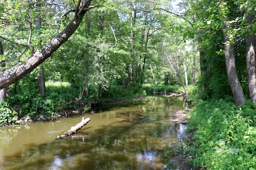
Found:
<path fill-rule="evenodd" d="M 178 131 L 177 126 L 166 120 L 172 116 L 167 108 L 172 108 L 171 99 L 153 97 L 137 111 L 118 114 L 122 121 L 102 125 L 90 134 L 83 133 L 89 136 L 84 142 L 63 138 L 41 145 L 27 144 L 20 153 L 7 156 L 3 165 L 11 169 L 162 168 L 170 141 L 163 136 L 174 138 Z"/>

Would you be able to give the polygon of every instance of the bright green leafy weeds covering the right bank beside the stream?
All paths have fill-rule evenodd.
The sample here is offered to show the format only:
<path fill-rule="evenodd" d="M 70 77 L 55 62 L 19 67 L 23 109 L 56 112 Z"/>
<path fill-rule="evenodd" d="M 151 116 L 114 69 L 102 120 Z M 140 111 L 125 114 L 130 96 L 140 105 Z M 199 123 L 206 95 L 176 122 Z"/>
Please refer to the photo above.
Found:
<path fill-rule="evenodd" d="M 236 107 L 232 97 L 201 101 L 189 113 L 192 139 L 178 145 L 195 167 L 211 170 L 256 169 L 256 105 Z"/>

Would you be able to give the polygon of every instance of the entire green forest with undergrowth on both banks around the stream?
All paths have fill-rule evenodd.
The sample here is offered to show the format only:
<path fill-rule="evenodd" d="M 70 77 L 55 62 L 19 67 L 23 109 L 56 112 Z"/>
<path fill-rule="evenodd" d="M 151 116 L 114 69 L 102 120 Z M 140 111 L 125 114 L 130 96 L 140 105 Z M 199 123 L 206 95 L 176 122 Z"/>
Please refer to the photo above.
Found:
<path fill-rule="evenodd" d="M 0 0 L 0 126 L 174 92 L 186 163 L 256 169 L 255 0 Z"/>

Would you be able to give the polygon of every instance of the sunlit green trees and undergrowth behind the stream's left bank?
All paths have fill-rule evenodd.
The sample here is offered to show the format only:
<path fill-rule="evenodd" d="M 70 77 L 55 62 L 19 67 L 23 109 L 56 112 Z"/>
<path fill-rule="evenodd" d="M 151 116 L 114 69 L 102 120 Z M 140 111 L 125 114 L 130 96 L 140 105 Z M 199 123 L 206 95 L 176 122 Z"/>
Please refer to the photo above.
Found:
<path fill-rule="evenodd" d="M 66 10 L 79 5 L 65 0 L 1 3 L 1 67 L 8 73 L 3 77 L 14 69 L 20 71 L 8 78 L 15 81 L 11 85 L 0 80 L 3 86 L 9 85 L 2 90 L 6 102 L 0 125 L 91 111 L 101 102 L 145 96 L 152 85 L 154 90 L 188 93 L 188 85 L 195 84 L 197 48 L 192 49 L 193 42 L 184 42 L 183 33 L 170 30 L 170 23 L 174 27 L 186 23 L 163 10 L 147 11 L 154 8 L 150 1 L 85 0 L 81 6 L 84 2 L 94 6 L 80 16 L 76 32 L 50 57 L 49 40 L 55 37 L 62 43 L 58 36 L 70 34 L 63 35 L 61 30 L 71 29 L 68 23 L 79 19 L 76 11 L 72 15 Z M 172 8 L 168 1 L 158 5 L 163 4 Z M 46 61 L 23 73 L 34 67 L 26 63 L 40 62 L 37 58 L 42 53 L 48 56 Z M 20 79 L 21 74 L 27 75 Z"/>

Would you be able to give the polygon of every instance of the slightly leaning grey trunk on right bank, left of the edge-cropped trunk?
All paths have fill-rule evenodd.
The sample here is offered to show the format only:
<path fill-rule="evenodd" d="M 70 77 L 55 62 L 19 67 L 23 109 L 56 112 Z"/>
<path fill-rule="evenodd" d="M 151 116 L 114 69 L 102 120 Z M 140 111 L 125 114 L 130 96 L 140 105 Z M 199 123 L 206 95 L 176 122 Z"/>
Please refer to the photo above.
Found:
<path fill-rule="evenodd" d="M 222 1 L 222 6 L 225 8 L 224 1 Z M 230 41 L 230 33 L 231 28 L 230 24 L 228 23 L 227 16 L 223 16 L 226 18 L 223 24 L 223 37 L 225 43 L 225 62 L 226 62 L 226 69 L 227 69 L 227 77 L 230 83 L 230 88 L 232 90 L 232 94 L 234 96 L 236 106 L 245 105 L 245 97 L 244 92 L 239 82 L 236 73 L 236 63 L 235 63 L 235 54 L 234 54 L 234 44 Z M 231 34 L 231 33 L 230 33 Z"/>

